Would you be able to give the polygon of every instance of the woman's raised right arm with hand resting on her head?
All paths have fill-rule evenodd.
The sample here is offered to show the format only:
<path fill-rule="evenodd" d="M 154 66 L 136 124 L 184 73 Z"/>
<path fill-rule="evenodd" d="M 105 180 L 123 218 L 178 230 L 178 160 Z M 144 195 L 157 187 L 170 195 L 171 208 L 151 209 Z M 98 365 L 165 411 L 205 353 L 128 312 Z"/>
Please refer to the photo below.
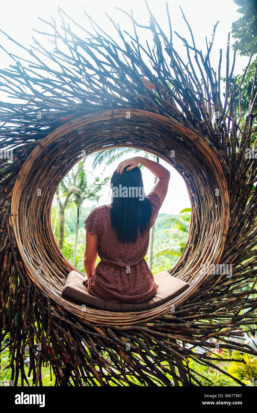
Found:
<path fill-rule="evenodd" d="M 150 192 L 155 192 L 159 196 L 160 204 L 162 205 L 168 190 L 170 171 L 156 161 L 151 161 L 151 159 L 136 156 L 120 162 L 117 172 L 122 173 L 124 168 L 127 168 L 126 170 L 129 172 L 131 169 L 136 168 L 139 164 L 145 166 L 156 176 L 157 181 L 155 185 L 153 185 Z"/>

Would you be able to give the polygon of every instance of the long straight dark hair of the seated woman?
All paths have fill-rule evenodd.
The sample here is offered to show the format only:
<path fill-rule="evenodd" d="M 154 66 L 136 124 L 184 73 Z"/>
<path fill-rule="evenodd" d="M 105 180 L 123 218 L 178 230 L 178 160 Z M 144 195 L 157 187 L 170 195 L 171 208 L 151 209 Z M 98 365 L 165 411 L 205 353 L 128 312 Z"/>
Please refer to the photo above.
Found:
<path fill-rule="evenodd" d="M 127 167 L 126 167 L 127 168 Z M 126 244 L 132 242 L 133 244 L 137 241 L 138 229 L 143 236 L 146 230 L 150 229 L 150 218 L 151 218 L 151 204 L 149 199 L 144 195 L 144 184 L 142 180 L 142 174 L 137 166 L 131 169 L 131 171 L 123 169 L 122 173 L 117 173 L 117 170 L 113 172 L 111 177 L 111 189 L 112 193 L 112 207 L 111 207 L 111 226 L 116 230 L 118 240 L 121 244 Z M 121 189 L 127 188 L 127 195 L 122 197 Z M 130 191 L 129 188 L 132 188 Z M 136 195 L 137 188 L 138 196 Z M 118 196 L 117 196 L 118 189 Z M 124 194 L 125 194 L 124 189 Z"/>

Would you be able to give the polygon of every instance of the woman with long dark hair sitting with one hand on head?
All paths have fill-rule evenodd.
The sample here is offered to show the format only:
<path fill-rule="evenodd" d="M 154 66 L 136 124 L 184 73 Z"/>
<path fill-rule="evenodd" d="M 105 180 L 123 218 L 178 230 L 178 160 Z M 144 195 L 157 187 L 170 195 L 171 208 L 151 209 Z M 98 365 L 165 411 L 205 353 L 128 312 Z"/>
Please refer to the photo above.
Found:
<path fill-rule="evenodd" d="M 138 165 L 158 179 L 147 197 Z M 89 294 L 115 303 L 142 303 L 157 285 L 144 259 L 149 231 L 167 194 L 170 172 L 142 157 L 126 159 L 111 178 L 112 203 L 94 208 L 85 220 L 83 284 Z M 95 268 L 97 253 L 101 261 Z"/>

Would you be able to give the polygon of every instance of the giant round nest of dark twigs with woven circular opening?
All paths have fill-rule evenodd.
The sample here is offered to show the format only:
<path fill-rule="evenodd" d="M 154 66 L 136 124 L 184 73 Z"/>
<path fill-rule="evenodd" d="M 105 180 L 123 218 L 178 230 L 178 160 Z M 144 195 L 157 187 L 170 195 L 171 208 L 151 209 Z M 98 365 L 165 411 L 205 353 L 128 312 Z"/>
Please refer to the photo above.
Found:
<path fill-rule="evenodd" d="M 207 339 L 215 337 L 224 352 L 241 350 L 243 344 L 231 341 L 231 336 L 240 338 L 240 332 L 232 332 L 256 323 L 257 167 L 255 159 L 245 157 L 245 148 L 252 147 L 256 71 L 249 112 L 240 127 L 240 85 L 231 82 L 236 50 L 229 71 L 228 43 L 223 98 L 222 52 L 214 71 L 212 43 L 203 56 L 192 34 L 189 44 L 176 33 L 186 47 L 184 63 L 172 45 L 168 9 L 169 39 L 148 10 L 149 26 L 130 16 L 134 36 L 126 32 L 129 40 L 110 19 L 120 36 L 116 43 L 89 16 L 94 34 L 74 21 L 73 32 L 64 21 L 70 18 L 60 9 L 60 31 L 55 22 L 45 22 L 52 29 L 47 36 L 54 38 L 55 52 L 20 45 L 33 61 L 24 57 L 23 66 L 22 59 L 8 53 L 15 63 L 0 70 L 3 90 L 19 102 L 3 102 L 0 110 L 1 149 L 13 151 L 11 161 L 0 160 L 0 320 L 2 338 L 7 333 L 10 337 L 14 385 L 19 374 L 22 383 L 27 380 L 26 344 L 35 385 L 42 384 L 44 362 L 50 363 L 56 385 L 108 386 L 114 381 L 167 386 L 171 377 L 175 385 L 199 385 L 189 357 L 207 366 L 218 358 L 196 354 L 185 343 L 214 350 Z M 153 35 L 152 48 L 139 43 L 137 27 Z M 61 296 L 74 268 L 54 239 L 52 200 L 82 153 L 88 156 L 106 147 L 134 147 L 158 155 L 182 175 L 189 192 L 189 237 L 170 273 L 190 288 L 149 311 L 84 311 Z M 232 264 L 232 277 L 205 273 L 207 262 Z M 41 344 L 37 358 L 35 343 Z M 244 351 L 257 354 L 249 346 Z"/>

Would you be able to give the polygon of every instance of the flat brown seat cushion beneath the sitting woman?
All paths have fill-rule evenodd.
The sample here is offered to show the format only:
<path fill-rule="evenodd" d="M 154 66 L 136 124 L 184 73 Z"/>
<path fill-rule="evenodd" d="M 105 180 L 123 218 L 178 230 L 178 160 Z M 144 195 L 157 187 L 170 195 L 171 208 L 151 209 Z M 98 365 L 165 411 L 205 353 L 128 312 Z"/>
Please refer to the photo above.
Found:
<path fill-rule="evenodd" d="M 96 309 L 130 312 L 144 311 L 158 307 L 167 303 L 167 301 L 170 301 L 174 297 L 177 297 L 179 294 L 182 294 L 182 292 L 189 288 L 187 282 L 172 277 L 167 271 L 161 271 L 160 273 L 153 275 L 153 278 L 159 286 L 157 288 L 157 293 L 151 300 L 140 304 L 111 303 L 90 295 L 87 291 L 87 287 L 82 284 L 85 280 L 85 276 L 77 273 L 77 271 L 71 271 L 68 274 L 66 284 L 62 290 L 62 295 L 73 301 L 79 301 L 80 303 L 87 304 Z"/>

